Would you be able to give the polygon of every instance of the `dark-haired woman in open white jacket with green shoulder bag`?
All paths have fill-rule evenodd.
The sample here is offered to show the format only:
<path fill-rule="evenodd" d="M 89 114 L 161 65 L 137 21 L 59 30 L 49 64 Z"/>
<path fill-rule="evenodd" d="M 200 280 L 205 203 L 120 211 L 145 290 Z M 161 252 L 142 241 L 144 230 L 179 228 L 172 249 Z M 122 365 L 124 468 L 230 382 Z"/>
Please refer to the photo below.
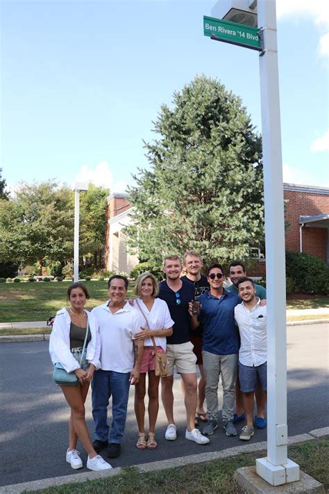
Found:
<path fill-rule="evenodd" d="M 87 451 L 87 468 L 90 470 L 106 470 L 111 465 L 103 460 L 92 447 L 92 441 L 85 423 L 85 399 L 89 390 L 90 381 L 95 369 L 101 367 L 99 362 L 100 339 L 96 319 L 85 310 L 85 303 L 89 298 L 86 287 L 76 282 L 69 286 L 67 298 L 69 308 L 62 308 L 56 314 L 49 340 L 49 353 L 53 365 L 60 363 L 67 372 L 74 372 L 78 377 L 78 384 L 69 386 L 61 385 L 71 415 L 69 417 L 69 448 L 66 461 L 72 468 L 82 468 L 83 462 L 76 450 L 78 438 Z M 88 324 L 87 324 L 88 322 Z M 87 335 L 87 351 L 81 358 L 81 349 Z"/>

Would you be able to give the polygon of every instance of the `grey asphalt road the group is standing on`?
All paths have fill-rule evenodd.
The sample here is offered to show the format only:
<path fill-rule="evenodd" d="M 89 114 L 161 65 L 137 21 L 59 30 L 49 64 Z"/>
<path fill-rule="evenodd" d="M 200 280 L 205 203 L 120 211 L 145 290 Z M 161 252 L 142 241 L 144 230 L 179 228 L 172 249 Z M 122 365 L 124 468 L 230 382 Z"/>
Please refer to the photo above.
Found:
<path fill-rule="evenodd" d="M 287 328 L 289 436 L 304 433 L 328 422 L 328 325 Z M 51 381 L 52 367 L 47 342 L 3 343 L 0 345 L 0 485 L 76 473 L 65 462 L 68 408 L 62 393 Z M 211 444 L 200 446 L 184 438 L 184 407 L 177 376 L 176 421 L 178 440 L 163 438 L 165 414 L 160 406 L 158 449 L 140 452 L 135 448 L 137 427 L 133 412 L 133 389 L 123 452 L 112 466 L 134 465 L 241 444 L 228 438 L 221 428 Z M 219 393 L 221 398 L 221 393 Z M 88 426 L 92 433 L 90 395 L 87 398 Z M 239 430 L 239 429 L 238 429 Z M 257 431 L 253 442 L 265 440 L 266 431 Z M 80 448 L 83 451 L 82 447 Z M 85 463 L 86 454 L 82 453 Z M 85 472 L 83 468 L 78 472 Z"/>

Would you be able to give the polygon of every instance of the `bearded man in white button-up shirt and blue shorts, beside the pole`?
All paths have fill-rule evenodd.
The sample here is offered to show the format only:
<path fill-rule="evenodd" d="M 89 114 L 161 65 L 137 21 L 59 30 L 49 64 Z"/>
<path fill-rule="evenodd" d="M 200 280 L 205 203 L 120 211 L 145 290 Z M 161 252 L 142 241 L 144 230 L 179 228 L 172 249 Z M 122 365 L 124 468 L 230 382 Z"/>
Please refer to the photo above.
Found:
<path fill-rule="evenodd" d="M 253 405 L 255 389 L 260 381 L 264 404 L 267 392 L 267 307 L 260 305 L 256 297 L 255 283 L 244 276 L 237 282 L 242 303 L 235 307 L 235 321 L 239 327 L 241 345 L 239 348 L 239 381 L 243 393 L 246 425 L 240 439 L 249 440 L 254 434 Z M 258 409 L 264 418 L 264 409 Z"/>

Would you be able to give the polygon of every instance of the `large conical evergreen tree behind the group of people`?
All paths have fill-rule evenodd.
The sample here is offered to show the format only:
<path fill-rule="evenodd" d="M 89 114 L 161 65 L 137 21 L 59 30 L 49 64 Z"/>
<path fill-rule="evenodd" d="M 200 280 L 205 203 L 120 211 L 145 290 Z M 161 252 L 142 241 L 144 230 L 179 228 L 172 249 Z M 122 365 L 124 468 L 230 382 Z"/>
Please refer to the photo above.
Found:
<path fill-rule="evenodd" d="M 261 139 L 242 101 L 196 77 L 162 105 L 151 164 L 129 188 L 128 245 L 142 260 L 194 248 L 205 262 L 248 257 L 264 236 Z"/>

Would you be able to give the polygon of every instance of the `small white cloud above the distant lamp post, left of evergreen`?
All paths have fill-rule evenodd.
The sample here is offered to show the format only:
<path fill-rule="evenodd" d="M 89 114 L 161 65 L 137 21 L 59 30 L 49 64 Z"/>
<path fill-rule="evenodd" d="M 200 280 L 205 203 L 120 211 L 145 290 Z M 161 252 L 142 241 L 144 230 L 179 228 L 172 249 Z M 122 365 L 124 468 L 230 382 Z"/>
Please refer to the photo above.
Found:
<path fill-rule="evenodd" d="M 114 182 L 107 161 L 101 161 L 95 168 L 87 165 L 81 166 L 76 182 L 92 182 L 96 186 L 110 189 L 111 192 L 124 192 L 127 186 L 126 182 Z"/>

